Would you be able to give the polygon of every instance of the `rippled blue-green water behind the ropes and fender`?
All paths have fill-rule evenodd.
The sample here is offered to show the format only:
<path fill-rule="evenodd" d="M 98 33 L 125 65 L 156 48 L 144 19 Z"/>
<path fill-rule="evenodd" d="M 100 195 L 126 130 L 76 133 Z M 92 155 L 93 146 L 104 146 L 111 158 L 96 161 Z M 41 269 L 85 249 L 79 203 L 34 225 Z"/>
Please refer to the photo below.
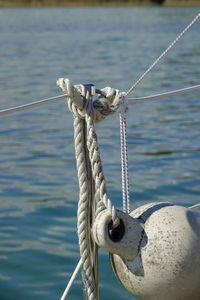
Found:
<path fill-rule="evenodd" d="M 198 8 L 0 10 L 0 109 L 60 94 L 59 77 L 126 91 Z M 135 96 L 200 78 L 200 23 Z M 131 104 L 131 206 L 199 202 L 200 93 Z M 96 126 L 109 195 L 121 207 L 118 115 Z M 72 116 L 64 101 L 0 119 L 0 299 L 59 299 L 79 260 Z M 100 299 L 131 296 L 100 256 Z M 81 276 L 70 293 L 81 299 Z M 134 299 L 132 297 L 132 299 Z"/>

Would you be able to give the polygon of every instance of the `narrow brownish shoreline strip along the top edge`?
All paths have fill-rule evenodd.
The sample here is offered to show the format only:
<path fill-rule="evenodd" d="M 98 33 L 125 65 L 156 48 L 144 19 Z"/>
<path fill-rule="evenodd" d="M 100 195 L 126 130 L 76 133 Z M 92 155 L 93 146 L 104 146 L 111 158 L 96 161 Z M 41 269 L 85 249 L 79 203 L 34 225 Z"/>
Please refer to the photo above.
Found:
<path fill-rule="evenodd" d="M 0 0 L 0 8 L 87 6 L 200 6 L 200 0 Z"/>

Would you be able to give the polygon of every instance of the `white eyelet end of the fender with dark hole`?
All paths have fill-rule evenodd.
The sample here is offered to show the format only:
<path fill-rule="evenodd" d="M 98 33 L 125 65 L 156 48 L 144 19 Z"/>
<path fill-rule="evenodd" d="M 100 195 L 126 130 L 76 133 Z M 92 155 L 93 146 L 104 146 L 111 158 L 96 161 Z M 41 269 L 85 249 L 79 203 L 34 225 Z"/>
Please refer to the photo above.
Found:
<path fill-rule="evenodd" d="M 117 210 L 120 223 L 112 228 L 110 211 L 103 210 L 92 227 L 93 238 L 100 248 L 125 259 L 134 259 L 144 237 L 141 224 L 131 216 Z"/>

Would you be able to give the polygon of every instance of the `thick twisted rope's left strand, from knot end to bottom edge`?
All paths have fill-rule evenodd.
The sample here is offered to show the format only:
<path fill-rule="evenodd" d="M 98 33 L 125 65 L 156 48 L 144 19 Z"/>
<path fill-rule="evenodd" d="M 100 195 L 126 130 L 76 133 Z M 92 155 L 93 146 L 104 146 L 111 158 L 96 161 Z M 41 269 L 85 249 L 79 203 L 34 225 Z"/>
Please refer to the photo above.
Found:
<path fill-rule="evenodd" d="M 89 300 L 96 300 L 97 293 L 90 253 L 90 210 L 89 210 L 89 182 L 86 161 L 86 137 L 85 137 L 85 114 L 84 102 L 78 89 L 75 89 L 68 80 L 60 79 L 57 82 L 63 90 L 69 94 L 68 106 L 74 115 L 74 145 L 77 162 L 79 181 L 79 202 L 77 212 L 77 229 L 79 237 L 79 248 L 83 267 L 84 283 Z M 83 86 L 80 86 L 80 89 Z M 85 99 L 86 100 L 86 99 Z M 89 98 L 87 98 L 89 101 Z M 79 104 L 79 105 L 78 105 Z M 85 103 L 86 104 L 86 103 Z"/>

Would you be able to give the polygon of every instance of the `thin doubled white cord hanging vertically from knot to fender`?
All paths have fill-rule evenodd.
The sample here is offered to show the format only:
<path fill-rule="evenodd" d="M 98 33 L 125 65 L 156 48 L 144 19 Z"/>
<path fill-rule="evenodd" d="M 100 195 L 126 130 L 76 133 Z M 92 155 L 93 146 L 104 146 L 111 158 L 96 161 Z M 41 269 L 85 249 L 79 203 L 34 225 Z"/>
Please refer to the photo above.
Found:
<path fill-rule="evenodd" d="M 130 213 L 130 189 L 128 173 L 128 149 L 127 149 L 127 125 L 126 117 L 128 113 L 128 99 L 122 93 L 123 102 L 120 106 L 120 141 L 121 141 L 121 173 L 122 173 L 122 199 L 123 212 Z"/>

